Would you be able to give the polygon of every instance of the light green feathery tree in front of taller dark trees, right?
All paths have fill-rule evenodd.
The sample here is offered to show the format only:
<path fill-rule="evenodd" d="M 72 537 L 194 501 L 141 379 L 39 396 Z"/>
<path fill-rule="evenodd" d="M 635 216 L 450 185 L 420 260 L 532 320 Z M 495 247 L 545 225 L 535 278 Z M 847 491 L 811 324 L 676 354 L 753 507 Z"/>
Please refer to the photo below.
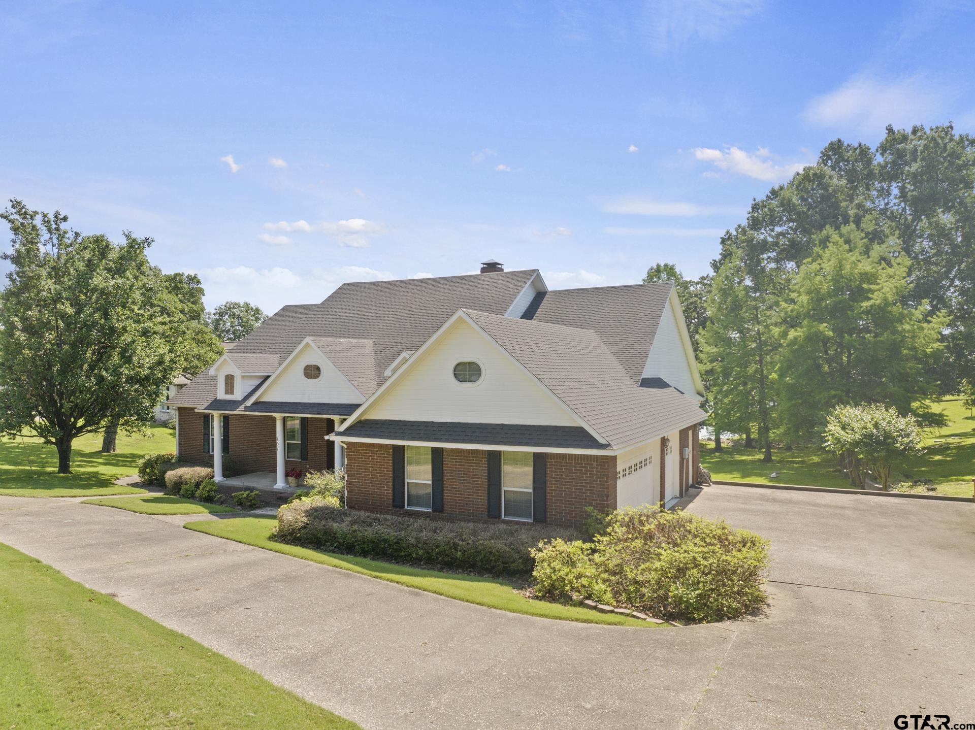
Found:
<path fill-rule="evenodd" d="M 784 297 L 777 363 L 779 422 L 791 439 L 822 433 L 839 404 L 909 413 L 934 395 L 931 371 L 947 318 L 906 303 L 911 262 L 848 225 L 817 237 Z"/>

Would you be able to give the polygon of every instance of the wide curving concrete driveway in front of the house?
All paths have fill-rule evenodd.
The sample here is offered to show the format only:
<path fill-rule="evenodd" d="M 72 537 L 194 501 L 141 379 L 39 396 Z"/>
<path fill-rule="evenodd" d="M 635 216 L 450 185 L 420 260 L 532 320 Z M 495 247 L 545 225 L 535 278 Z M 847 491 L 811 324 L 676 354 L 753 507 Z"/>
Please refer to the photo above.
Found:
<path fill-rule="evenodd" d="M 73 500 L 0 497 L 0 542 L 367 728 L 975 722 L 975 509 L 715 486 L 772 540 L 765 615 L 622 629 L 507 614 Z"/>

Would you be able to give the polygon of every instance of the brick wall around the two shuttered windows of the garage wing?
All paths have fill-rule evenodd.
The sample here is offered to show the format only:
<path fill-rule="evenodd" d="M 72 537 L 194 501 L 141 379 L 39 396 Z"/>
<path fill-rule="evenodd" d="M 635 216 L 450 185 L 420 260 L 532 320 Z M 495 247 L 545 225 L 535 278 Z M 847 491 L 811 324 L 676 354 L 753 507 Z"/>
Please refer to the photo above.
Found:
<path fill-rule="evenodd" d="M 393 507 L 393 451 L 390 445 L 347 443 L 345 467 L 350 509 L 433 519 L 489 519 L 487 451 L 444 449 L 443 514 Z M 586 507 L 616 509 L 616 457 L 549 454 L 546 502 L 549 524 L 579 526 L 585 519 Z"/>

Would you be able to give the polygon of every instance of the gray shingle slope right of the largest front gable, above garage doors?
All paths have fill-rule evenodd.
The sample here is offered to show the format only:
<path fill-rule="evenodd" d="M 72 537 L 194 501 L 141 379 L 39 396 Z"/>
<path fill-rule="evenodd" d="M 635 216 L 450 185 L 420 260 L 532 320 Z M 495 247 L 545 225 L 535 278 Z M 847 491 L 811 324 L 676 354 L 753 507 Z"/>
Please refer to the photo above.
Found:
<path fill-rule="evenodd" d="M 592 330 L 465 312 L 614 448 L 707 417 L 674 388 L 638 387 Z"/>

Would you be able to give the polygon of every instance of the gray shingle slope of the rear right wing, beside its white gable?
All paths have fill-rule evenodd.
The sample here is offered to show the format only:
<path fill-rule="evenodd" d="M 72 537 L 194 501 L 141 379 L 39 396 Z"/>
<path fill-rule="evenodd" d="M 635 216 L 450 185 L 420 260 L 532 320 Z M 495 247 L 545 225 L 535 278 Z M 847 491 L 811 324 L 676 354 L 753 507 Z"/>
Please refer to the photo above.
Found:
<path fill-rule="evenodd" d="M 639 385 L 653 337 L 674 285 L 567 288 L 535 294 L 522 319 L 592 329 Z"/>

